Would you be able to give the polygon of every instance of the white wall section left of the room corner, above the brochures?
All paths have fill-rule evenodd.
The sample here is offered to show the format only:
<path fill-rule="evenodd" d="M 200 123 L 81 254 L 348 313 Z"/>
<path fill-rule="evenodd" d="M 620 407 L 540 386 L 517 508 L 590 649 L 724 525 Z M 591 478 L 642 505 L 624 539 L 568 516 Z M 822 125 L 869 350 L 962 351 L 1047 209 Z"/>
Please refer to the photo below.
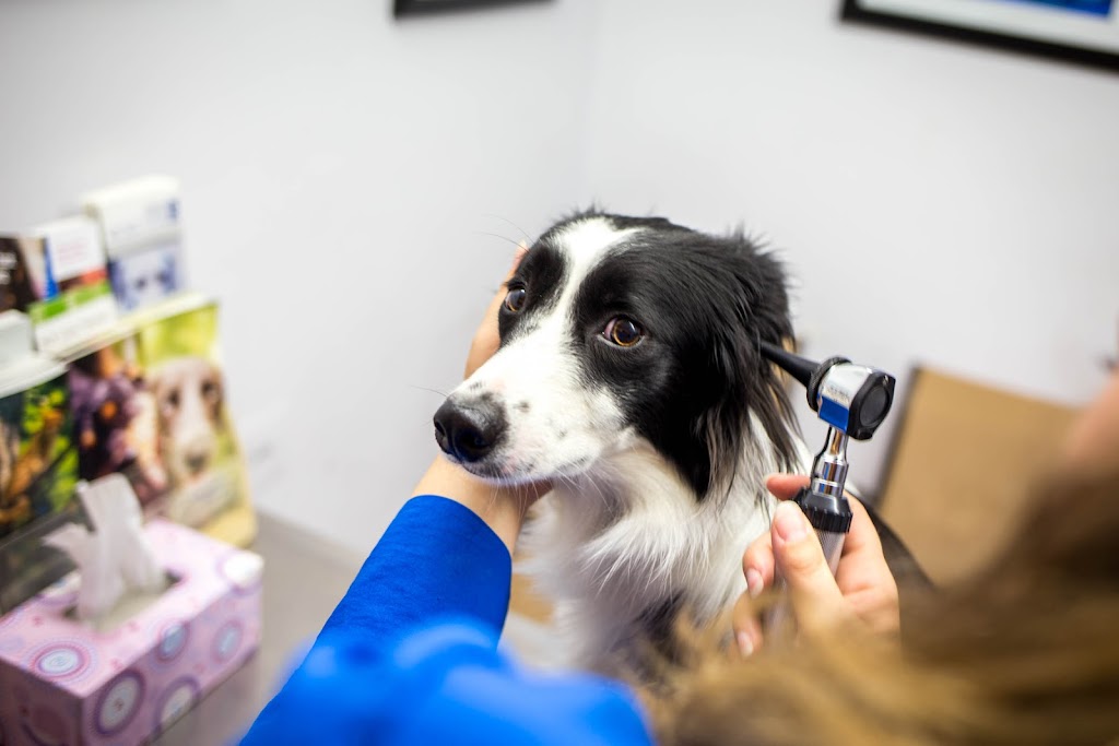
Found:
<path fill-rule="evenodd" d="M 391 4 L 0 3 L 0 226 L 179 177 L 255 500 L 360 550 L 436 452 L 423 387 L 461 378 L 514 224 L 580 192 L 590 74 L 585 3 Z"/>

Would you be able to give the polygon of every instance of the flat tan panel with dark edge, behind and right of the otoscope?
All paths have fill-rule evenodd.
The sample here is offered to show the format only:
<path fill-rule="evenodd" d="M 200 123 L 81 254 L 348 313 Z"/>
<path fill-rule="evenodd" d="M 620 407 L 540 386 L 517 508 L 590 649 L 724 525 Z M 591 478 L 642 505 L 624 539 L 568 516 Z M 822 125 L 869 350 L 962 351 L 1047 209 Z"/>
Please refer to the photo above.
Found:
<path fill-rule="evenodd" d="M 1010 539 L 1076 410 L 928 368 L 896 408 L 880 512 L 934 583 L 960 580 Z"/>

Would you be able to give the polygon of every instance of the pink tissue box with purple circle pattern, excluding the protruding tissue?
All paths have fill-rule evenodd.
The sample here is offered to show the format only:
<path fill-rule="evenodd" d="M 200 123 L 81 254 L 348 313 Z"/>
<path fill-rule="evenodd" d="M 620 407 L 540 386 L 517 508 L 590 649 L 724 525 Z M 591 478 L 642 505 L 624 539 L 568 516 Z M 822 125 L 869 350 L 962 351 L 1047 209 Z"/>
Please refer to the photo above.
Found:
<path fill-rule="evenodd" d="M 178 582 L 113 629 L 73 618 L 76 578 L 0 617 L 0 744 L 137 744 L 256 650 L 257 555 L 164 520 L 145 528 Z"/>

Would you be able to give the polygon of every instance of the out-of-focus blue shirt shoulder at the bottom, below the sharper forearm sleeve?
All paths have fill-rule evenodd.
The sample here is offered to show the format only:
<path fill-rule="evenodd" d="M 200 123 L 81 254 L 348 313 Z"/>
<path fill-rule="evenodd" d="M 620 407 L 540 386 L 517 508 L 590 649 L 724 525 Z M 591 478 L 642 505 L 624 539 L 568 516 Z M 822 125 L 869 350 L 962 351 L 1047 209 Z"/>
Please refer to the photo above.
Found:
<path fill-rule="evenodd" d="M 415 630 L 385 651 L 326 634 L 244 744 L 651 746 L 633 695 L 586 673 L 545 674 L 470 620 Z M 276 703 L 280 706 L 276 707 Z M 269 714 L 265 710 L 265 714 Z"/>

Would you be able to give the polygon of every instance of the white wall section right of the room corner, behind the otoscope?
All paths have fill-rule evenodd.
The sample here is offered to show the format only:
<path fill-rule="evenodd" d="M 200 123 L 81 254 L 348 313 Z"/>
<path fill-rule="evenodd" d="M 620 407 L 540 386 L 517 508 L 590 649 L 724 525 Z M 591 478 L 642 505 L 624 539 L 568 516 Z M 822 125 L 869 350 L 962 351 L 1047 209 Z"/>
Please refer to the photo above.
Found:
<path fill-rule="evenodd" d="M 1119 327 L 1119 75 L 838 6 L 605 0 L 593 193 L 768 237 L 811 353 L 1087 400 Z M 864 482 L 887 441 L 853 446 Z"/>

